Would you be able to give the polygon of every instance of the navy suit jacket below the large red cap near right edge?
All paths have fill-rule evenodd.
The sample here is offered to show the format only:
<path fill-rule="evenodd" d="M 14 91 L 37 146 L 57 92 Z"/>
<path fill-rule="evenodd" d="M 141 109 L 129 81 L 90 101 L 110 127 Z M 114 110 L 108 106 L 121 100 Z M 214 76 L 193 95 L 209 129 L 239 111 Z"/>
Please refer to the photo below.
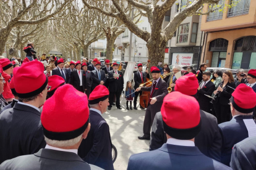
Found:
<path fill-rule="evenodd" d="M 222 137 L 221 163 L 227 166 L 229 166 L 234 145 L 248 137 L 243 119 L 252 119 L 252 116 L 236 116 L 231 121 L 219 124 Z"/>

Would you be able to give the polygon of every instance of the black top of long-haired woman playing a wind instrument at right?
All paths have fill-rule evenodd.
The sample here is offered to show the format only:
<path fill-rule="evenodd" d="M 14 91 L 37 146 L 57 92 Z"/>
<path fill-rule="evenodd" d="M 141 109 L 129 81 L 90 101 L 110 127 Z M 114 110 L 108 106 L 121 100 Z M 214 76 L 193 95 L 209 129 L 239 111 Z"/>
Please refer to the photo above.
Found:
<path fill-rule="evenodd" d="M 236 84 L 234 82 L 232 83 L 227 83 L 226 86 L 223 88 L 223 92 L 220 93 L 220 98 L 219 98 L 219 103 L 221 105 L 228 105 L 229 104 L 229 99 L 231 98 L 231 94 L 234 92 L 234 89 L 230 88 L 233 87 L 236 89 Z"/>

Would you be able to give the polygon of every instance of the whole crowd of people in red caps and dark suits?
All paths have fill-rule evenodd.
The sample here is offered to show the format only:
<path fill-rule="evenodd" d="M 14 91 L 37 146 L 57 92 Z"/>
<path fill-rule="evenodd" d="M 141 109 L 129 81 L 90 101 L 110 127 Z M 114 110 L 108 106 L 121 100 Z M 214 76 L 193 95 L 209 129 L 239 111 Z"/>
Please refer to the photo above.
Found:
<path fill-rule="evenodd" d="M 33 44 L 24 49 L 28 54 Z M 161 75 L 140 64 L 124 89 L 118 63 L 106 60 L 101 69 L 97 59 L 67 65 L 51 56 L 53 68 L 44 55 L 28 55 L 21 65 L 0 57 L 0 169 L 113 170 L 101 115 L 113 105 L 122 109 L 123 90 L 127 110 L 137 110 L 148 92 L 138 139 L 150 140 L 150 151 L 130 156 L 127 169 L 256 168 L 256 70 L 237 70 L 234 79 L 229 70 L 211 75 L 206 63 L 183 76 L 178 65 Z M 149 71 L 151 84 L 142 86 Z"/>

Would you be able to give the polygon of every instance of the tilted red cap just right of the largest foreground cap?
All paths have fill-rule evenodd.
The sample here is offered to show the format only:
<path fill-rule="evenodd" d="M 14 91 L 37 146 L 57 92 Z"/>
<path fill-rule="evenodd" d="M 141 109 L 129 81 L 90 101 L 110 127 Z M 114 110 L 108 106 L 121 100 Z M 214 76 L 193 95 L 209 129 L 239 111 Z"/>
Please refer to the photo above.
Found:
<path fill-rule="evenodd" d="M 106 86 L 98 85 L 89 96 L 89 104 L 93 105 L 108 99 L 109 91 Z"/>

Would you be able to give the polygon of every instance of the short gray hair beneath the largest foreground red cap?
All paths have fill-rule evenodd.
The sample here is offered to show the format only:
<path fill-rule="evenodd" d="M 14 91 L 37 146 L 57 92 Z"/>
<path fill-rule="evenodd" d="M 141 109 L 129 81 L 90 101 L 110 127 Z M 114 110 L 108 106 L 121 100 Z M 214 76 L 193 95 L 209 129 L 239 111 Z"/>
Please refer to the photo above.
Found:
<path fill-rule="evenodd" d="M 80 140 L 82 139 L 82 134 L 80 136 L 75 137 L 74 139 L 70 140 L 51 140 L 45 137 L 46 144 L 51 145 L 56 148 L 61 148 L 61 147 L 71 147 L 75 144 L 77 144 Z"/>

